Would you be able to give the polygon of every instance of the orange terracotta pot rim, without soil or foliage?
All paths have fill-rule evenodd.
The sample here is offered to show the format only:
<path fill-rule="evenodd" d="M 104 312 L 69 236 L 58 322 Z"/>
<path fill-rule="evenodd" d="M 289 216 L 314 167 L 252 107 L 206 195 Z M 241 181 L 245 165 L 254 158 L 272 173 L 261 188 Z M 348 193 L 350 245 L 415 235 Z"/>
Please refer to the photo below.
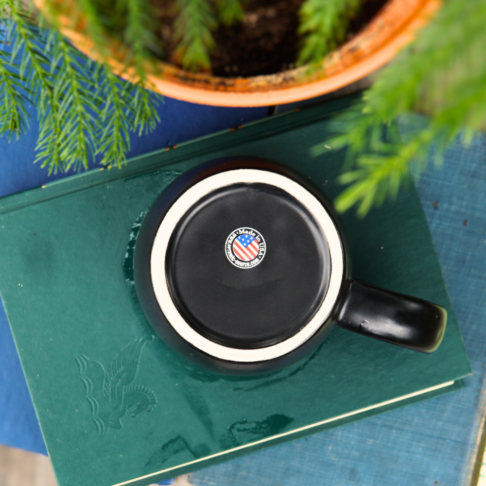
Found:
<path fill-rule="evenodd" d="M 44 0 L 35 1 L 43 10 Z M 318 69 L 302 66 L 276 74 L 249 78 L 222 78 L 192 73 L 173 64 L 157 62 L 148 68 L 153 89 L 163 95 L 191 103 L 216 106 L 268 106 L 293 103 L 345 87 L 385 65 L 427 22 L 439 0 L 389 0 L 378 15 L 357 35 L 327 55 Z M 82 33 L 83 25 L 72 25 L 64 13 L 57 15 L 61 32 L 72 44 L 95 60 L 101 59 L 93 42 Z M 122 63 L 123 48 L 110 46 L 111 69 L 125 79 L 130 71 Z"/>

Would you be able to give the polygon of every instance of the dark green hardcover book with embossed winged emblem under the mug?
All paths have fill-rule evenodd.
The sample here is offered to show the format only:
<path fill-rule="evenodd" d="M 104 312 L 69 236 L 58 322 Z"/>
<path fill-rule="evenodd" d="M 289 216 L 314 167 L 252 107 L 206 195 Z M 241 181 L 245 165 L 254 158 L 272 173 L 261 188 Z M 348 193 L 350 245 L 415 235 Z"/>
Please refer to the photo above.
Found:
<path fill-rule="evenodd" d="M 333 199 L 343 154 L 317 158 L 350 99 L 251 123 L 0 200 L 0 292 L 59 486 L 146 485 L 463 386 L 466 351 L 417 191 L 343 216 L 352 275 L 444 306 L 427 355 L 334 329 L 258 377 L 171 351 L 137 301 L 140 222 L 179 174 L 224 156 L 287 164 Z"/>

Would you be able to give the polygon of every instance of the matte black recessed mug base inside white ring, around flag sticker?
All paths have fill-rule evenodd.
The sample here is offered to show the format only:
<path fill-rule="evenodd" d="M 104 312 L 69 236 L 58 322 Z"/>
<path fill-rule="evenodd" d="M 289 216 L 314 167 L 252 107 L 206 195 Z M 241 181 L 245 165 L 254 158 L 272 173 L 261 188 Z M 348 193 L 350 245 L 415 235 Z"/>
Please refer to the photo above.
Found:
<path fill-rule="evenodd" d="M 226 257 L 240 227 L 261 233 L 268 251 L 252 268 Z M 186 322 L 227 347 L 270 346 L 302 329 L 330 278 L 327 240 L 287 192 L 265 184 L 213 191 L 180 220 L 167 252 L 167 282 Z"/>

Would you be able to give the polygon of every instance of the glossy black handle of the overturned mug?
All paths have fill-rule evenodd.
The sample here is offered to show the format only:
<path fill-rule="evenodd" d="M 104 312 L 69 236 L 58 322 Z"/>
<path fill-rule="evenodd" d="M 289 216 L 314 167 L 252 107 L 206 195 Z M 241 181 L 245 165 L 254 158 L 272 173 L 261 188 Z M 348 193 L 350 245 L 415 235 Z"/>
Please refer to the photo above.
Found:
<path fill-rule="evenodd" d="M 424 353 L 437 349 L 446 328 L 444 308 L 352 278 L 346 285 L 337 326 Z"/>

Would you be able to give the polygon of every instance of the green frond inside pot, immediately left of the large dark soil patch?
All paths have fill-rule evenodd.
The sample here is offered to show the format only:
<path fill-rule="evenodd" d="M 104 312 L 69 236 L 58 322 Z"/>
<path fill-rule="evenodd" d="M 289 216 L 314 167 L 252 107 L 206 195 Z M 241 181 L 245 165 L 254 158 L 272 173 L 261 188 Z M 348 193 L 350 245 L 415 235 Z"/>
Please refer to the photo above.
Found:
<path fill-rule="evenodd" d="M 208 0 L 176 0 L 176 4 L 174 60 L 191 71 L 210 70 L 209 52 L 214 48 L 211 30 L 217 22 Z"/>

